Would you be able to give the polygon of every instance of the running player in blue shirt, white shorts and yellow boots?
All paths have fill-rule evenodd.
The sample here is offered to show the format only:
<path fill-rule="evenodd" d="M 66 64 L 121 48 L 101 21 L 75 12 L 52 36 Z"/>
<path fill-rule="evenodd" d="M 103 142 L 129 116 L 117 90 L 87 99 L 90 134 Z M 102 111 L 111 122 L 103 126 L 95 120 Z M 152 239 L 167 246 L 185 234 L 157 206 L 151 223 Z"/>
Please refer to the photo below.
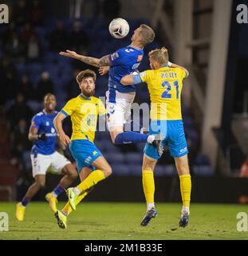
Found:
<path fill-rule="evenodd" d="M 76 168 L 64 155 L 56 151 L 57 133 L 53 126 L 56 98 L 53 94 L 44 97 L 44 110 L 36 114 L 31 122 L 29 139 L 34 142 L 31 150 L 33 178 L 35 182 L 30 186 L 22 202 L 18 202 L 16 218 L 22 222 L 27 204 L 37 191 L 45 186 L 45 173 L 52 166 L 58 174 L 65 174 L 60 183 L 51 193 L 45 195 L 53 212 L 57 211 L 57 197 L 77 178 Z"/>

